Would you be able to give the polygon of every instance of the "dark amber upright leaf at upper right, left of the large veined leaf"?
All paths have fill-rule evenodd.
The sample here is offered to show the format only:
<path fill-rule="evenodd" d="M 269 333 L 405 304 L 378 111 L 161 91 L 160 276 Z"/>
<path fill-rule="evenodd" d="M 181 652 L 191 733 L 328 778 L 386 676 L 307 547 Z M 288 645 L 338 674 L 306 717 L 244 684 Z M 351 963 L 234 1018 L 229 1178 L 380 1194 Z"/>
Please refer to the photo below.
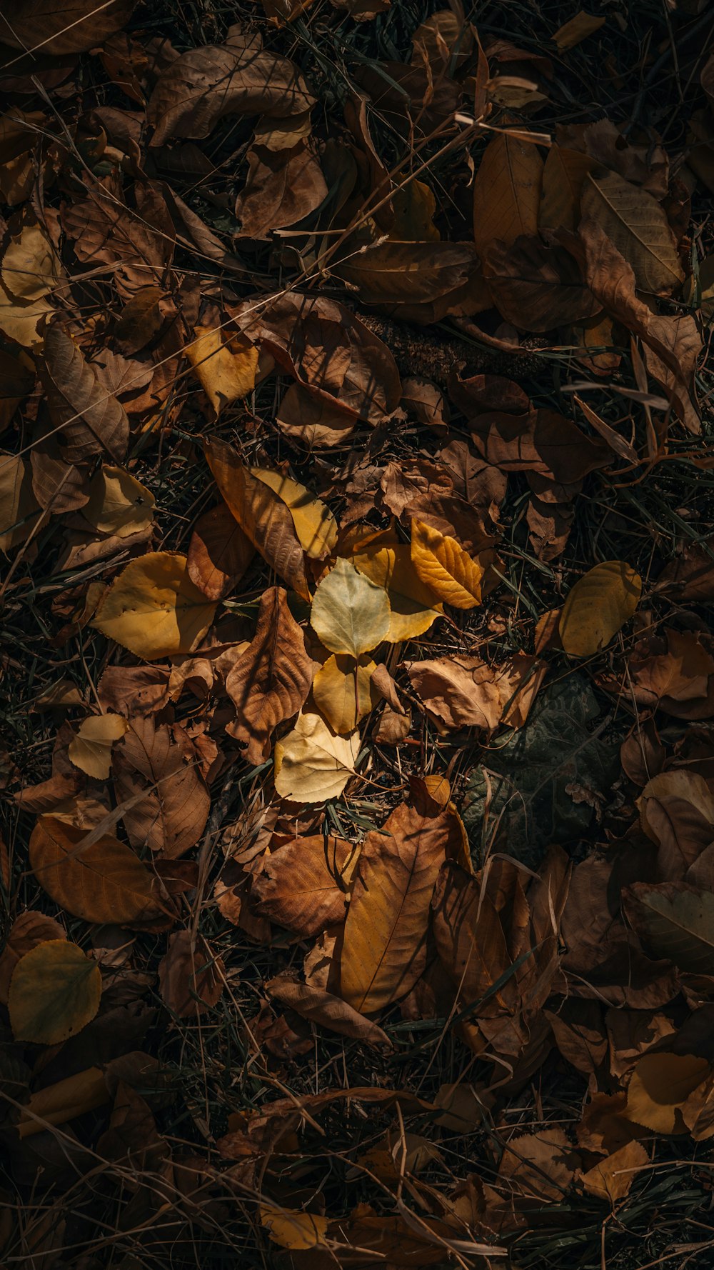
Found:
<path fill-rule="evenodd" d="M 480 254 L 537 232 L 542 159 L 536 146 L 508 133 L 489 141 L 474 180 L 474 240 Z"/>

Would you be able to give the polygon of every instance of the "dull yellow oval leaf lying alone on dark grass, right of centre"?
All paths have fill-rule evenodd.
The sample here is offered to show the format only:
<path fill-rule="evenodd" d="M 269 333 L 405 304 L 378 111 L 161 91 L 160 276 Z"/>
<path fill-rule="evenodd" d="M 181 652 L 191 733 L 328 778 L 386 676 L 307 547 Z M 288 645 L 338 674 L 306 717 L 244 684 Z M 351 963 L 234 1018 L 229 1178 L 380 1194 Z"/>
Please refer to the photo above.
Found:
<path fill-rule="evenodd" d="M 633 616 L 642 578 L 623 560 L 606 560 L 589 569 L 570 591 L 558 624 L 569 657 L 591 657 L 605 648 Z"/>

